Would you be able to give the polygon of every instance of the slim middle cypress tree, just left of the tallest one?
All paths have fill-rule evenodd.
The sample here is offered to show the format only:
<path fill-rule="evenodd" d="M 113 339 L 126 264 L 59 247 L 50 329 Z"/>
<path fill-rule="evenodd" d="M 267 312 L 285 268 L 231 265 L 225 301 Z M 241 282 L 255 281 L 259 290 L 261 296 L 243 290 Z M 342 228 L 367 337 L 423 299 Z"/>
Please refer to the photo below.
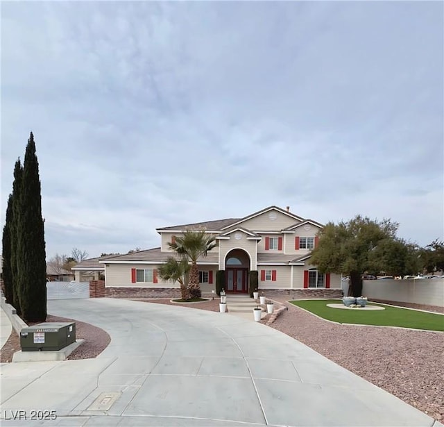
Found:
<path fill-rule="evenodd" d="M 12 220 L 10 224 L 11 256 L 10 268 L 12 275 L 12 305 L 17 315 L 22 315 L 20 305 L 20 283 L 19 283 L 19 235 L 22 233 L 19 218 L 22 213 L 22 181 L 23 167 L 20 159 L 17 159 L 14 167 L 14 183 L 12 183 Z"/>

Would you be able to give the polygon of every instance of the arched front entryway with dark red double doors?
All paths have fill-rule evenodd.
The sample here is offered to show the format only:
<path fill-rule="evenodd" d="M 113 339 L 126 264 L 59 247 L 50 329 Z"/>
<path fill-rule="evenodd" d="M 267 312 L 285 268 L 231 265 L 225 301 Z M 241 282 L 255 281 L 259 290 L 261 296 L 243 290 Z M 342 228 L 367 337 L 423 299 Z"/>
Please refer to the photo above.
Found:
<path fill-rule="evenodd" d="M 248 293 L 250 256 L 244 249 L 232 249 L 225 257 L 225 291 L 229 294 Z"/>

